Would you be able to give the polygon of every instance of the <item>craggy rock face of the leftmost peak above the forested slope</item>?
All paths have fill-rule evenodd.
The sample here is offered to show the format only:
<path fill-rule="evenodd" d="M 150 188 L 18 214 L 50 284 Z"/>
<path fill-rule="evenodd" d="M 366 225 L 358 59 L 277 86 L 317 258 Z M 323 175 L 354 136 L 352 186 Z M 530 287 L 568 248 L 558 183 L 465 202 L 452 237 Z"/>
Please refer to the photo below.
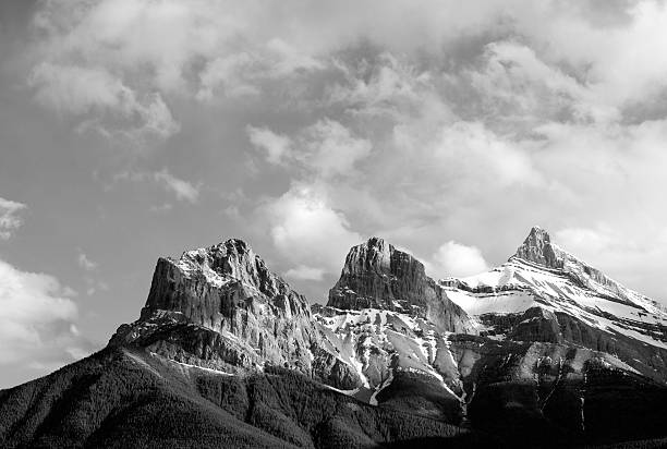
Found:
<path fill-rule="evenodd" d="M 232 239 L 160 258 L 140 319 L 121 326 L 111 344 L 227 372 L 280 366 L 335 386 L 359 384 L 320 340 L 305 298 Z"/>

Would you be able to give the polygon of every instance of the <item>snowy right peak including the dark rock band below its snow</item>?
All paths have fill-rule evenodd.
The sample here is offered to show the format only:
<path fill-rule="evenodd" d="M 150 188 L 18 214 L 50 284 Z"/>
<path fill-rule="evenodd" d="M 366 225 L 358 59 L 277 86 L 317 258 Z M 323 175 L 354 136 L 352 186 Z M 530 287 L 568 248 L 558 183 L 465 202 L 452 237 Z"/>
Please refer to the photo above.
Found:
<path fill-rule="evenodd" d="M 545 230 L 533 228 L 500 267 L 439 284 L 486 326 L 483 335 L 581 344 L 667 380 L 665 308 L 568 254 Z"/>

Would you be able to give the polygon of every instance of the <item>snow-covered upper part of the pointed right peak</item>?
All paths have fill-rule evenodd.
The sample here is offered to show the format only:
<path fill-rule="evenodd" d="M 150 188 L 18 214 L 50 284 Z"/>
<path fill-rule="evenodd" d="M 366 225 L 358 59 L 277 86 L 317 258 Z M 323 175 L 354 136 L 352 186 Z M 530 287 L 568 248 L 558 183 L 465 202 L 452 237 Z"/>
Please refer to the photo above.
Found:
<path fill-rule="evenodd" d="M 488 314 L 518 314 L 537 306 L 605 332 L 667 349 L 667 312 L 663 306 L 565 252 L 537 227 L 506 264 L 439 284 L 447 298 L 486 323 L 494 321 Z"/>

